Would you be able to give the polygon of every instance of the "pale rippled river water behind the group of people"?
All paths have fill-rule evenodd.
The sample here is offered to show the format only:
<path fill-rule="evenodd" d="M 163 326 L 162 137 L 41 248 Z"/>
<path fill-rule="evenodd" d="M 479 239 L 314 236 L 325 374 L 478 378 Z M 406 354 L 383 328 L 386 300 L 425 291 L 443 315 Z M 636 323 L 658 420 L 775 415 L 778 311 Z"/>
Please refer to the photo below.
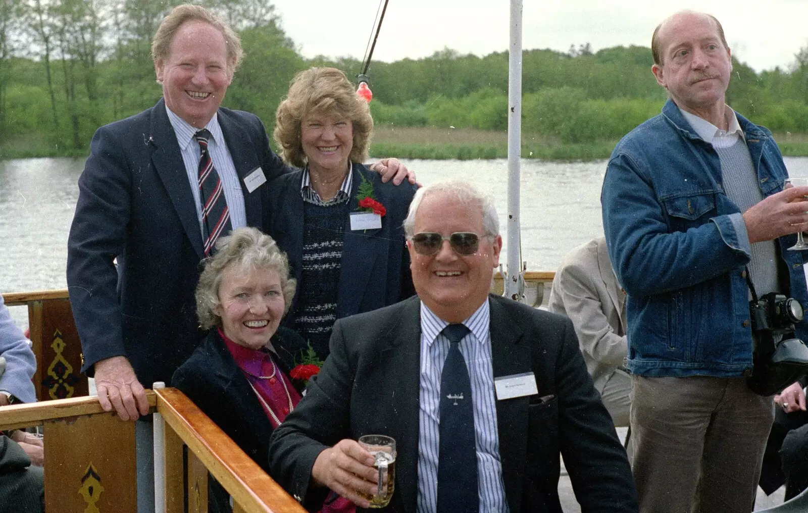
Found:
<path fill-rule="evenodd" d="M 507 161 L 405 160 L 421 183 L 465 179 L 494 197 L 505 238 Z M 808 158 L 786 158 L 792 176 Z M 65 288 L 67 235 L 83 158 L 0 161 L 0 292 Z M 521 164 L 522 259 L 528 270 L 554 271 L 564 254 L 603 233 L 600 185 L 605 161 Z M 501 262 L 507 262 L 507 243 Z M 16 317 L 16 316 L 15 316 Z"/>

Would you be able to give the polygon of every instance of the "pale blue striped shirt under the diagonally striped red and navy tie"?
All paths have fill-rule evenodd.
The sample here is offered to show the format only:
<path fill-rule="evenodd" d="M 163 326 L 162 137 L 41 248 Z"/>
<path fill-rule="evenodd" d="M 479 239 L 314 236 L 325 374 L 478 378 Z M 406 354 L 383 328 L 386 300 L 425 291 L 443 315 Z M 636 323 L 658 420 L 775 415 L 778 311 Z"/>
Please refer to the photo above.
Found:
<path fill-rule="evenodd" d="M 188 183 L 191 185 L 191 193 L 194 195 L 194 203 L 196 204 L 196 218 L 200 221 L 200 233 L 202 233 L 202 240 L 204 240 L 199 187 L 199 168 L 202 153 L 200 152 L 199 143 L 194 139 L 194 134 L 199 132 L 200 129 L 192 127 L 168 107 L 166 107 L 166 112 L 168 112 L 168 120 L 171 122 L 177 136 L 179 151 L 183 154 L 185 172 L 188 175 Z M 221 133 L 218 114 L 213 116 L 204 128 L 207 128 L 212 136 L 208 141 L 208 152 L 213 159 L 213 167 L 216 168 L 219 179 L 221 179 L 221 185 L 225 189 L 225 200 L 230 212 L 230 225 L 233 229 L 241 228 L 247 224 L 244 193 L 242 192 L 242 184 L 238 183 L 238 173 L 233 164 L 233 158 L 230 156 L 230 150 L 227 148 L 227 143 L 225 143 L 225 136 Z"/>

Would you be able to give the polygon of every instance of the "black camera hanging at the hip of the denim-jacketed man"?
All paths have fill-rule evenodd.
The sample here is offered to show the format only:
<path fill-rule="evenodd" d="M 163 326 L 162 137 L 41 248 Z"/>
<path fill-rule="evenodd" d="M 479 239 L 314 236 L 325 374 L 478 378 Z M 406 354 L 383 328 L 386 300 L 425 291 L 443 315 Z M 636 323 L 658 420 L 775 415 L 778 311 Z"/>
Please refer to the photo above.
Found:
<path fill-rule="evenodd" d="M 749 302 L 752 325 L 752 375 L 749 388 L 763 396 L 777 393 L 808 372 L 808 347 L 794 334 L 802 305 L 793 297 L 769 292 Z"/>

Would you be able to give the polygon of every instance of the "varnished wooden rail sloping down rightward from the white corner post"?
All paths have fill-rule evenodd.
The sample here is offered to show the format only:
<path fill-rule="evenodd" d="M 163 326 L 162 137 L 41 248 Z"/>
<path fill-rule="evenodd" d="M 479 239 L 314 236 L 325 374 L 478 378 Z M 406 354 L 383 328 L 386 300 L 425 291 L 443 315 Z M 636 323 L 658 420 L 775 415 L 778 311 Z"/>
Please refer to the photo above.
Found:
<path fill-rule="evenodd" d="M 178 441 L 200 460 L 204 468 L 224 486 L 242 511 L 305 513 L 305 509 L 265 473 L 250 456 L 225 435 L 207 415 L 177 389 L 158 389 L 157 411 L 166 422 L 166 513 L 174 513 L 182 490 L 172 485 L 182 469 L 171 465 Z M 172 435 L 177 439 L 172 440 Z M 172 456 L 173 455 L 173 456 Z M 189 458 L 190 460 L 190 458 Z M 171 474 L 174 477 L 171 477 Z M 180 474 L 181 475 L 181 474 Z M 207 476 L 204 476 L 205 478 Z M 196 501 L 189 490 L 189 502 Z M 200 497 L 201 501 L 204 497 Z M 207 508 L 207 504 L 198 504 Z M 181 510 L 179 510 L 181 511 Z"/>

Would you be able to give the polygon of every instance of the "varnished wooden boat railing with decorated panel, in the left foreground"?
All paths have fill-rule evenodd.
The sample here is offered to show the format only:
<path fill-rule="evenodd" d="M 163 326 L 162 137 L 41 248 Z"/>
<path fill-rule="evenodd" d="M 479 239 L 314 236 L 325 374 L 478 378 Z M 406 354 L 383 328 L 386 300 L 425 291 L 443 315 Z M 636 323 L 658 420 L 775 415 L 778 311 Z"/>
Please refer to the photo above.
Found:
<path fill-rule="evenodd" d="M 233 497 L 234 513 L 305 512 L 179 390 L 147 394 L 149 406 L 159 414 L 155 423 L 164 427 L 159 467 L 164 469 L 165 513 L 208 511 L 208 473 Z M 39 424 L 44 433 L 46 512 L 137 512 L 133 422 L 104 412 L 95 397 L 0 409 L 0 430 Z"/>

